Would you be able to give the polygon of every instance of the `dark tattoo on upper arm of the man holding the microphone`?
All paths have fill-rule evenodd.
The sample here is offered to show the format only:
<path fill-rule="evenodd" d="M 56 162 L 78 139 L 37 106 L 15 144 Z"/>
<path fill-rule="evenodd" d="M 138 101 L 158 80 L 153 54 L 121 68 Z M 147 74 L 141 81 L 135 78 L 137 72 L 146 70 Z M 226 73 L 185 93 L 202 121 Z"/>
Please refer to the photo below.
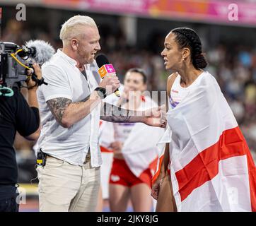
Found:
<path fill-rule="evenodd" d="M 47 106 L 54 115 L 54 118 L 62 124 L 62 117 L 66 107 L 71 104 L 71 100 L 64 97 L 58 97 L 47 101 Z"/>

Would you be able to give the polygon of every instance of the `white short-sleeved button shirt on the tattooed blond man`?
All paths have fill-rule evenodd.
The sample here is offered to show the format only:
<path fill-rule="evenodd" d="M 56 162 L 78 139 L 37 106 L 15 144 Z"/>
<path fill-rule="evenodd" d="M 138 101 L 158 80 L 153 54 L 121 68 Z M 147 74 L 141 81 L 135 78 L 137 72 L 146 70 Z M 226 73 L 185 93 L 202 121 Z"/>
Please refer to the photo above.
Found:
<path fill-rule="evenodd" d="M 91 165 L 98 167 L 102 163 L 98 145 L 100 105 L 70 128 L 64 128 L 54 119 L 46 103 L 57 97 L 79 102 L 90 95 L 100 83 L 100 76 L 95 61 L 86 64 L 85 69 L 88 82 L 76 67 L 76 61 L 60 49 L 42 66 L 42 76 L 48 85 L 41 85 L 37 89 L 42 131 L 35 151 L 42 148 L 43 152 L 72 165 L 83 165 L 90 147 Z"/>

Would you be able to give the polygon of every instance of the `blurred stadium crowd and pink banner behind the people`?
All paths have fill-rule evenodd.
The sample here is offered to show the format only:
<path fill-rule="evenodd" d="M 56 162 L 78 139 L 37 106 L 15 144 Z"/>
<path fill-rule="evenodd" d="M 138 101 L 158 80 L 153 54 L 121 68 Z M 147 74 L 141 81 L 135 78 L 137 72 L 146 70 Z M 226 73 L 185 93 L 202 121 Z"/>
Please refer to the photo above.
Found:
<path fill-rule="evenodd" d="M 16 20 L 20 3 L 26 6 L 24 21 Z M 230 4 L 238 6 L 238 20 L 228 19 Z M 62 45 L 64 21 L 76 14 L 93 17 L 101 52 L 120 81 L 127 69 L 139 66 L 148 74 L 148 90 L 165 90 L 170 74 L 161 57 L 165 35 L 177 27 L 193 28 L 202 38 L 206 70 L 219 82 L 256 160 L 256 0 L 2 0 L 0 7 L 1 41 L 22 45 L 40 39 L 55 49 Z M 26 192 L 21 211 L 37 211 L 37 180 L 30 184 L 36 177 L 33 143 L 17 134 L 15 147 L 19 183 Z"/>

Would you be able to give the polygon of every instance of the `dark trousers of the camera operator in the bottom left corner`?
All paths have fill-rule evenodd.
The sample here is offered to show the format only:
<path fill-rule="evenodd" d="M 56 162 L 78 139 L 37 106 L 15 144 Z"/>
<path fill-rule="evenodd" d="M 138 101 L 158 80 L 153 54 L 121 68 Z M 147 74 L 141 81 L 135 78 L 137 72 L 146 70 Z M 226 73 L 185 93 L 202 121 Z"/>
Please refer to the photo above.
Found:
<path fill-rule="evenodd" d="M 0 212 L 18 212 L 18 190 L 14 185 L 0 185 Z"/>

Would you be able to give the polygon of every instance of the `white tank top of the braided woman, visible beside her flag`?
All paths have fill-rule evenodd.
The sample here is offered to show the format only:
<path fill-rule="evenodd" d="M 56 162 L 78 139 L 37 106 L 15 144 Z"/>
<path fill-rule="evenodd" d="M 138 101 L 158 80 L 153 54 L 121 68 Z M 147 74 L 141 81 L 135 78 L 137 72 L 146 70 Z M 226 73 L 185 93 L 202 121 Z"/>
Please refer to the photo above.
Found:
<path fill-rule="evenodd" d="M 180 85 L 180 75 L 175 78 L 172 88 L 170 89 L 170 107 L 175 108 L 189 92 L 189 87 L 183 88 Z"/>

